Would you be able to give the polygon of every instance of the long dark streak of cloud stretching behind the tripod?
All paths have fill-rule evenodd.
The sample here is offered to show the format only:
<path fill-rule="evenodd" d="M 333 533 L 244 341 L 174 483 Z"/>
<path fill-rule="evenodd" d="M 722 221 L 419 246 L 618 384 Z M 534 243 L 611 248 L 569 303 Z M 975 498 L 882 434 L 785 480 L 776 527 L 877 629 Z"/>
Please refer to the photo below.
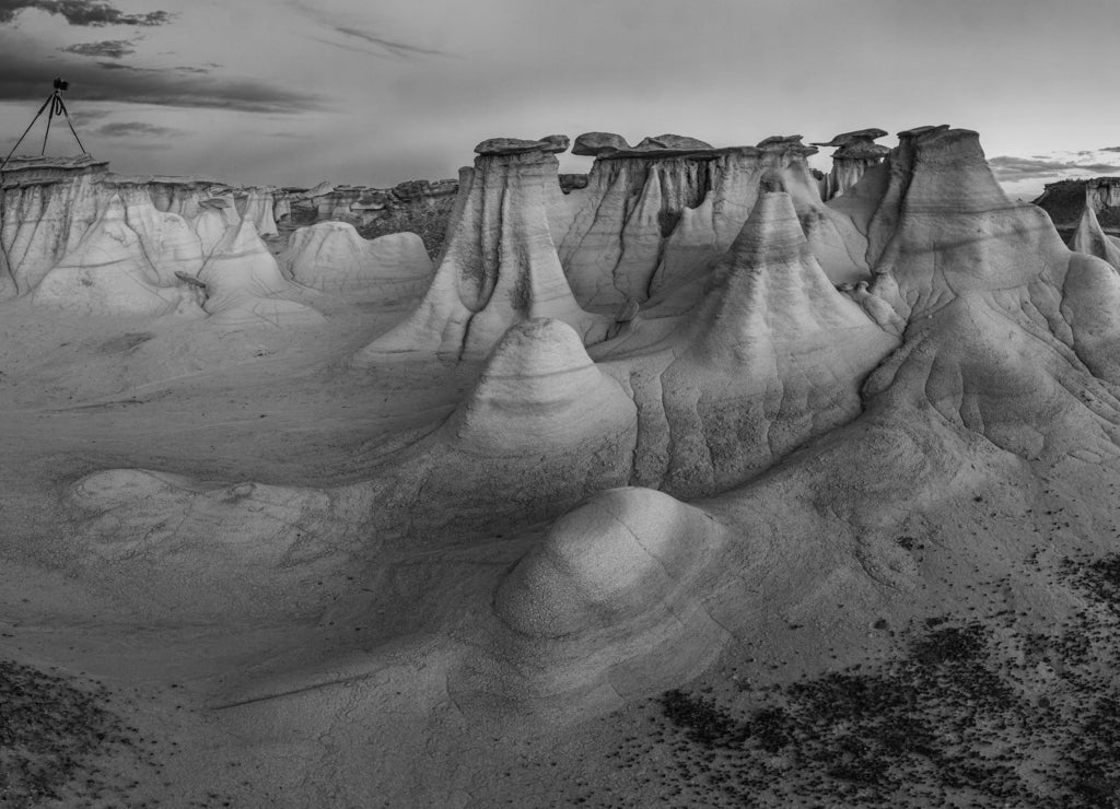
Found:
<path fill-rule="evenodd" d="M 100 68 L 100 69 L 99 69 Z M 185 74 L 177 68 L 138 68 L 116 62 L 65 66 L 72 105 L 114 101 L 159 106 L 205 107 L 241 112 L 296 113 L 320 109 L 318 98 L 252 79 Z M 59 66 L 0 50 L 0 101 L 38 101 L 50 90 Z"/>

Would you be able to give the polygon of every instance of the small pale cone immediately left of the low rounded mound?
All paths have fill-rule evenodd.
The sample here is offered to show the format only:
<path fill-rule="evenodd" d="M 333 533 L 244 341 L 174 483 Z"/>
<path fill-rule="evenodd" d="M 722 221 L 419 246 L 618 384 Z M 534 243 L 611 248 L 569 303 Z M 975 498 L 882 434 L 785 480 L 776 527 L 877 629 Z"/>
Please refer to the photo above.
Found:
<path fill-rule="evenodd" d="M 316 310 L 289 300 L 298 288 L 244 219 L 228 228 L 198 273 L 206 284 L 206 311 L 220 326 L 307 326 L 323 321 Z"/>

